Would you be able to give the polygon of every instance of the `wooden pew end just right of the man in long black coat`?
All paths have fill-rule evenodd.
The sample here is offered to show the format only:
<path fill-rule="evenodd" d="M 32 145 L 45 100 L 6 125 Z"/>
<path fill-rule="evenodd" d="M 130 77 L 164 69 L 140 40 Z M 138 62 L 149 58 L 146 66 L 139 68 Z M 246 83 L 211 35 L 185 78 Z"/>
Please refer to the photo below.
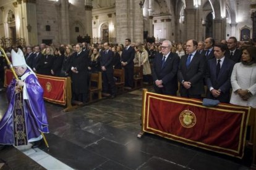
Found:
<path fill-rule="evenodd" d="M 101 72 L 92 73 L 90 78 L 90 102 L 93 100 L 93 94 L 96 92 L 98 93 L 98 99 L 101 99 L 101 91 L 102 91 L 102 79 L 101 79 Z"/>

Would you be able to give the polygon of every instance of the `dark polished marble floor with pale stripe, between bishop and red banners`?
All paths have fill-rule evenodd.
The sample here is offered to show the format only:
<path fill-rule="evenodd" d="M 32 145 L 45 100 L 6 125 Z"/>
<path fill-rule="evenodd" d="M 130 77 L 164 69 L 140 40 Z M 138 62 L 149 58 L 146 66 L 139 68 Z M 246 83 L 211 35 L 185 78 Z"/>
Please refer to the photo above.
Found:
<path fill-rule="evenodd" d="M 49 148 L 4 148 L 0 169 L 250 169 L 250 150 L 239 160 L 151 134 L 137 138 L 141 105 L 142 89 L 66 113 L 46 102 Z M 6 108 L 1 92 L 0 119 Z"/>

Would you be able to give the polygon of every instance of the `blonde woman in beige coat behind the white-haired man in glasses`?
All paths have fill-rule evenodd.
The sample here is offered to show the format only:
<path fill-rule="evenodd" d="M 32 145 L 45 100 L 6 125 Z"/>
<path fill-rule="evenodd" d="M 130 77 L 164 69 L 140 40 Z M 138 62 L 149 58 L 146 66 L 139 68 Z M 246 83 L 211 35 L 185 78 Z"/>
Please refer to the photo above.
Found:
<path fill-rule="evenodd" d="M 138 46 L 141 63 L 143 66 L 143 81 L 149 83 L 149 76 L 151 74 L 150 63 L 148 61 L 148 52 L 143 48 L 142 45 Z"/>

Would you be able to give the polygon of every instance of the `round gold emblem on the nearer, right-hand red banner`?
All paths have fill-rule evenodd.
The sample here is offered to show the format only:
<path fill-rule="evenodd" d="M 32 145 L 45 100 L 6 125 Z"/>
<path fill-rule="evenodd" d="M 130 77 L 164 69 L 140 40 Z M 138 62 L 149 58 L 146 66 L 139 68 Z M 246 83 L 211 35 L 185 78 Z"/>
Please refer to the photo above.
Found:
<path fill-rule="evenodd" d="M 190 110 L 183 110 L 179 115 L 179 121 L 181 125 L 186 128 L 190 128 L 195 126 L 197 122 L 197 118 L 195 117 L 195 113 Z"/>

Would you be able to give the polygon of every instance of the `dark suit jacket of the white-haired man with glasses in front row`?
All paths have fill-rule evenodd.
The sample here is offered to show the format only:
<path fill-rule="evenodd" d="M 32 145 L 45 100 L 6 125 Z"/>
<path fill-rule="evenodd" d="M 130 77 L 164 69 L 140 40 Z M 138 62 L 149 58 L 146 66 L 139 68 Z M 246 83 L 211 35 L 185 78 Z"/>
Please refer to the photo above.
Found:
<path fill-rule="evenodd" d="M 164 91 L 167 93 L 177 92 L 177 70 L 179 67 L 179 55 L 171 52 L 166 59 L 163 68 L 161 68 L 162 59 L 163 54 L 156 54 L 153 62 L 153 81 L 155 82 L 157 79 L 162 80 Z"/>

